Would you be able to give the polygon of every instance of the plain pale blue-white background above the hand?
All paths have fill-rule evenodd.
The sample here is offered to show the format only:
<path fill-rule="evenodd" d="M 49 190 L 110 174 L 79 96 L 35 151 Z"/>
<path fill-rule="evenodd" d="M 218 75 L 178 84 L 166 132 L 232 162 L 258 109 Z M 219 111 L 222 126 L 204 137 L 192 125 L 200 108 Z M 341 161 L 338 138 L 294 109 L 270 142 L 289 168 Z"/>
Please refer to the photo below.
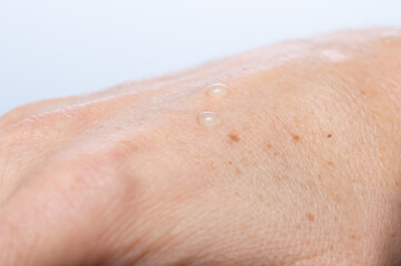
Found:
<path fill-rule="evenodd" d="M 290 38 L 401 27 L 401 0 L 0 0 L 0 114 Z"/>

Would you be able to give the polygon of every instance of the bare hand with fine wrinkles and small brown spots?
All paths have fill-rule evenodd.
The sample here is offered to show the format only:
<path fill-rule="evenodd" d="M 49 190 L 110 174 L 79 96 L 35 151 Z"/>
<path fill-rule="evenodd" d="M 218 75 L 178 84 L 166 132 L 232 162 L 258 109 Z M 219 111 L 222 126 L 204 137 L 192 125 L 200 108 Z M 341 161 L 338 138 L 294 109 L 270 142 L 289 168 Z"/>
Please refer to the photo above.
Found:
<path fill-rule="evenodd" d="M 401 265 L 401 38 L 388 31 L 6 114 L 0 265 Z M 213 83 L 229 94 L 209 96 Z M 199 124 L 204 111 L 222 124 Z"/>

